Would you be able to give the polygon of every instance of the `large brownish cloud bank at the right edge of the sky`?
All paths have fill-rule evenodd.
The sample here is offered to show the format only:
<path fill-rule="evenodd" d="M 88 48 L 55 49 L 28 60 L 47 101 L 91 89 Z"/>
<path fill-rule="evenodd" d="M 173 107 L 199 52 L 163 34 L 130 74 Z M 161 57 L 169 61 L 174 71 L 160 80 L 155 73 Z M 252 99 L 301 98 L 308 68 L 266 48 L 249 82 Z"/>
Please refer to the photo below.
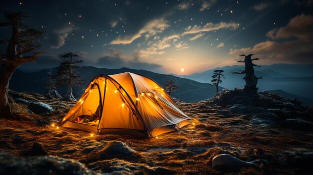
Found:
<path fill-rule="evenodd" d="M 301 14 L 286 26 L 267 32 L 266 40 L 253 47 L 230 49 L 229 55 L 257 54 L 263 63 L 313 63 L 313 16 Z"/>

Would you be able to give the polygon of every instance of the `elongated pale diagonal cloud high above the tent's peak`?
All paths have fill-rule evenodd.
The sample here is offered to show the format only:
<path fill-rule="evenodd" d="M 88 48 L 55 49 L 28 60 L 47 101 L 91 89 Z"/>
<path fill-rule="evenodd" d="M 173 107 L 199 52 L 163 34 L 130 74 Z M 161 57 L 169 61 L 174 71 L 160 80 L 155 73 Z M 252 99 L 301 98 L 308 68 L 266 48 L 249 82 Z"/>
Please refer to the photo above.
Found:
<path fill-rule="evenodd" d="M 155 35 L 164 31 L 169 25 L 164 18 L 153 19 L 148 21 L 138 32 L 133 35 L 122 37 L 119 35 L 116 39 L 112 40 L 110 44 L 130 44 L 135 39 L 144 35 L 145 38 Z"/>

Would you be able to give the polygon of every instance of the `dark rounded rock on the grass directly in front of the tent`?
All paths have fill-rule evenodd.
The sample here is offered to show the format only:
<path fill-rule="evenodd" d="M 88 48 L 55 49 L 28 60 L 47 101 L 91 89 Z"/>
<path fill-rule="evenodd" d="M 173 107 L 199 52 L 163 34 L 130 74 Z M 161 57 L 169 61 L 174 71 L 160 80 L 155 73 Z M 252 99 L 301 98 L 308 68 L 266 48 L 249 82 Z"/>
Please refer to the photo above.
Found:
<path fill-rule="evenodd" d="M 92 151 L 92 153 L 93 152 L 97 152 L 95 154 L 97 154 L 99 159 L 128 159 L 138 156 L 136 151 L 132 150 L 120 141 L 109 141 L 102 150 L 95 150 Z"/>

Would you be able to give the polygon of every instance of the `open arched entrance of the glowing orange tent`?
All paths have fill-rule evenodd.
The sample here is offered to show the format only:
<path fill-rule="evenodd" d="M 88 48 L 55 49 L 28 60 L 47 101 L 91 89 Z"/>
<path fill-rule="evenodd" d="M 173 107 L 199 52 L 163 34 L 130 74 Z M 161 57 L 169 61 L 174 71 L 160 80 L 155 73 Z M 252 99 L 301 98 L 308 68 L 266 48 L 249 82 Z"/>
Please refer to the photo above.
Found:
<path fill-rule="evenodd" d="M 88 96 L 78 110 L 78 115 L 75 119 L 76 123 L 96 126 L 99 124 L 102 109 L 101 92 L 99 89 L 97 83 L 92 84 Z"/>

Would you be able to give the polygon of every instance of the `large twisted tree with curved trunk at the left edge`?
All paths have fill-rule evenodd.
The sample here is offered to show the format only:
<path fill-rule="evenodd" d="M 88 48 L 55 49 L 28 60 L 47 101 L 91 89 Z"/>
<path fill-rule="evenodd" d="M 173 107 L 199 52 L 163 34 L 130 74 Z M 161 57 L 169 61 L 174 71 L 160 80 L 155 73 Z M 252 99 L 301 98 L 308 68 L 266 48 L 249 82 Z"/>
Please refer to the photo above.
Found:
<path fill-rule="evenodd" d="M 43 53 L 38 51 L 43 31 L 26 25 L 24 19 L 29 17 L 29 14 L 20 11 L 4 12 L 5 20 L 0 21 L 1 27 L 12 29 L 9 39 L 0 40 L 1 44 L 7 45 L 5 54 L 0 53 L 0 116 L 11 116 L 7 91 L 16 68 L 23 63 L 34 62 Z"/>

